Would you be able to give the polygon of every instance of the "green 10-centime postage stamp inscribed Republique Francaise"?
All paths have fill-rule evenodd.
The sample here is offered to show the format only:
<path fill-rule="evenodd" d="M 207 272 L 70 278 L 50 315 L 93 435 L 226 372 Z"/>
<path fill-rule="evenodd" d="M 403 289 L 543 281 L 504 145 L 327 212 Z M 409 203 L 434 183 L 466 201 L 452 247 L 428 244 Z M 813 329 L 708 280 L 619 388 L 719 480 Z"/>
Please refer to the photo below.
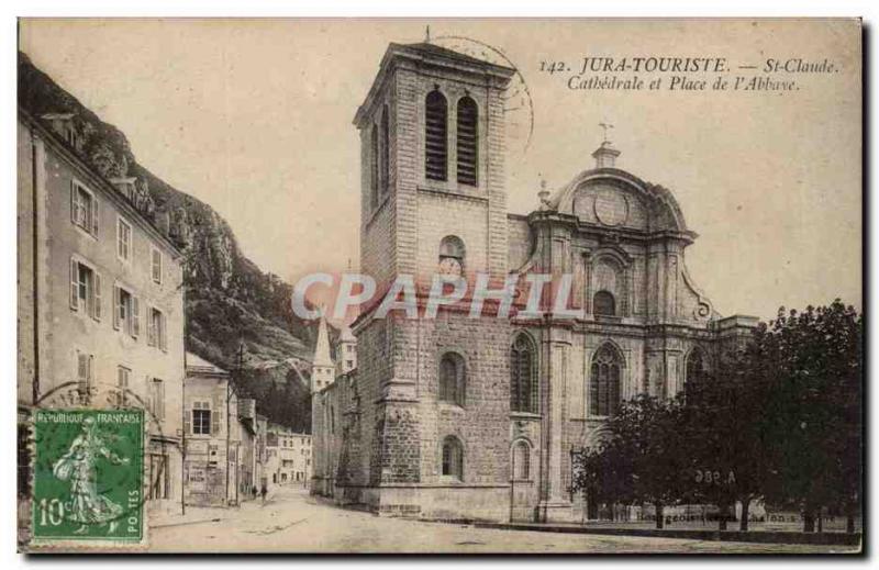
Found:
<path fill-rule="evenodd" d="M 33 538 L 140 543 L 142 410 L 40 410 L 34 421 Z"/>

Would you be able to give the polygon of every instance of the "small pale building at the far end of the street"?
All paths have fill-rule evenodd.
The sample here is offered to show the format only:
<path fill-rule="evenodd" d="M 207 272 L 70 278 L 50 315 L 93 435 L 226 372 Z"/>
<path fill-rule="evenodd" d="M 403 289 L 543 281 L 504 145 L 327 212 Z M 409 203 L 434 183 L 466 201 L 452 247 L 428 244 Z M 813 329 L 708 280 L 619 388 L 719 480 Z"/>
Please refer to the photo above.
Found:
<path fill-rule="evenodd" d="M 302 485 L 311 480 L 311 435 L 289 427 L 268 424 L 266 427 L 267 487 Z"/>

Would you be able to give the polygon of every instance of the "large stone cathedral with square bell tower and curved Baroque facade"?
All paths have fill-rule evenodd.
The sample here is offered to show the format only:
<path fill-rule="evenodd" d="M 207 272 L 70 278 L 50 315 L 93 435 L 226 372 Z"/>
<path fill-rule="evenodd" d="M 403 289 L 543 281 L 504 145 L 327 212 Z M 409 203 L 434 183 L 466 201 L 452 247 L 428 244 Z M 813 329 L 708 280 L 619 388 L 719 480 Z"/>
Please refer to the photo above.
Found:
<path fill-rule="evenodd" d="M 354 123 L 360 271 L 574 276 L 577 318 L 360 311 L 312 364 L 311 492 L 381 515 L 569 522 L 572 452 L 621 402 L 670 398 L 756 318 L 721 317 L 687 271 L 697 234 L 671 191 L 593 164 L 527 215 L 507 211 L 505 90 L 515 70 L 431 43 L 391 44 Z"/>

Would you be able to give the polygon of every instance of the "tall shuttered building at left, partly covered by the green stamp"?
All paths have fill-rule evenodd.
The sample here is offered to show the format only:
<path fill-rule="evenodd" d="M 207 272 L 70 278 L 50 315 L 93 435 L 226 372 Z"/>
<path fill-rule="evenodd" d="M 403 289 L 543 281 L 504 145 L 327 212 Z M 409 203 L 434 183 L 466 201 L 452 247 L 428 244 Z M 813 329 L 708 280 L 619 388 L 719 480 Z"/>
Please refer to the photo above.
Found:
<path fill-rule="evenodd" d="M 181 493 L 182 254 L 137 208 L 134 179 L 85 158 L 74 113 L 18 114 L 19 489 L 37 406 L 147 410 L 148 507 Z"/>

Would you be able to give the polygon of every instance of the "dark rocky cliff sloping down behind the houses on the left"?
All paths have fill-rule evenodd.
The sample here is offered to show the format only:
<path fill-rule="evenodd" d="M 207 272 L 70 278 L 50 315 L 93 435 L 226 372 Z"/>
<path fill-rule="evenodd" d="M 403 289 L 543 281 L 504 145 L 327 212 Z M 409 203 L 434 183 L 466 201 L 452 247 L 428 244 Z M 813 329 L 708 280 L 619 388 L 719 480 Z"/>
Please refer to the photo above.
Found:
<path fill-rule="evenodd" d="M 238 370 L 242 390 L 258 399 L 259 413 L 310 431 L 311 407 L 302 375 L 311 360 L 316 325 L 290 306 L 292 287 L 262 271 L 238 248 L 225 220 L 204 202 L 165 183 L 137 163 L 125 135 L 82 105 L 26 55 L 19 53 L 19 105 L 34 118 L 73 113 L 75 150 L 108 180 L 133 177 L 132 202 L 183 253 L 187 350 Z M 335 332 L 333 332 L 335 334 Z"/>

